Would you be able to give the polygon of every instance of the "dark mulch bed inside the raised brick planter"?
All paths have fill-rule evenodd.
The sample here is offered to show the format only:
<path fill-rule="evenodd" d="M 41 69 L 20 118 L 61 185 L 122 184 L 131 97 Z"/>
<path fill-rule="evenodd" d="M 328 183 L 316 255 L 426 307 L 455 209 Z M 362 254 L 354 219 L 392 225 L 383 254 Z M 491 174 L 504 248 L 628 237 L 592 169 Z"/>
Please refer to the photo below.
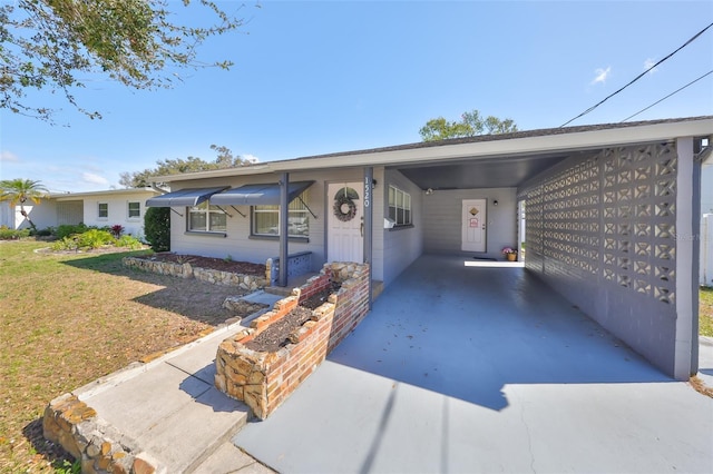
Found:
<path fill-rule="evenodd" d="M 338 292 L 340 287 L 341 285 L 339 283 L 332 283 L 331 288 L 305 299 L 300 306 L 284 315 L 282 319 L 271 324 L 267 329 L 260 333 L 257 337 L 245 343 L 245 347 L 252 350 L 268 353 L 280 350 L 281 347 L 287 345 L 287 336 L 290 336 L 290 333 L 310 320 L 312 310 L 322 306 L 322 304 L 326 302 L 326 298 L 329 298 L 332 293 Z"/>

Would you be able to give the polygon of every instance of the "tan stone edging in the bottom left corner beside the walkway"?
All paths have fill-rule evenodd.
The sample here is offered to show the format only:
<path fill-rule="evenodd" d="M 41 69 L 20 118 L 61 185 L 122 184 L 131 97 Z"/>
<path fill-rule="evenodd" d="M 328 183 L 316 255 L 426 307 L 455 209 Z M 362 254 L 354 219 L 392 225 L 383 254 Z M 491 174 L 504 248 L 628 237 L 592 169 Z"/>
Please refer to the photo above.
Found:
<path fill-rule="evenodd" d="M 97 416 L 72 394 L 49 403 L 42 418 L 45 438 L 61 445 L 89 474 L 152 474 L 156 463 L 139 453 L 136 443 Z"/>

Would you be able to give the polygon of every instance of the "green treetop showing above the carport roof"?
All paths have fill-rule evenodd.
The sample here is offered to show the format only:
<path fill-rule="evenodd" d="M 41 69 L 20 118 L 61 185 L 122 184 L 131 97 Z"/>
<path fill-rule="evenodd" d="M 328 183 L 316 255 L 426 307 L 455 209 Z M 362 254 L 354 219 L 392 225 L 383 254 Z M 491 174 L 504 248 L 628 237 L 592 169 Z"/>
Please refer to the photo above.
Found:
<path fill-rule="evenodd" d="M 460 121 L 448 121 L 443 117 L 430 119 L 419 130 L 423 141 L 445 140 L 447 138 L 475 137 L 477 135 L 510 134 L 517 131 L 511 119 L 500 120 L 489 116 L 482 118 L 478 110 L 465 112 Z"/>

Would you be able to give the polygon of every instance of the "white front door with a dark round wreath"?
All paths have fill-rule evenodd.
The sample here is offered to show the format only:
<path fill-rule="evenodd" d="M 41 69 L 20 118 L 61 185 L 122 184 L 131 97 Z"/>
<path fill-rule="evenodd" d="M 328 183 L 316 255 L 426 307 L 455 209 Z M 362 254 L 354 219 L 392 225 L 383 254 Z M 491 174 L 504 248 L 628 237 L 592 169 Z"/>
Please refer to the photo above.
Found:
<path fill-rule="evenodd" d="M 333 182 L 326 187 L 329 261 L 364 261 L 362 184 Z"/>

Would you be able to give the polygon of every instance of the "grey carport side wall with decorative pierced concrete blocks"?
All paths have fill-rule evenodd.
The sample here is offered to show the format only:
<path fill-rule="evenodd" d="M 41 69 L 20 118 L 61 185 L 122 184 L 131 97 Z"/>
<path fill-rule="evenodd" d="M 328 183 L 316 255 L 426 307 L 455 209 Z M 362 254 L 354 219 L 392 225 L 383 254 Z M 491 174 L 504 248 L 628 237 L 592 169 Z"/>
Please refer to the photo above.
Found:
<path fill-rule="evenodd" d="M 526 268 L 672 376 L 677 170 L 674 142 L 608 148 L 518 190 Z"/>

